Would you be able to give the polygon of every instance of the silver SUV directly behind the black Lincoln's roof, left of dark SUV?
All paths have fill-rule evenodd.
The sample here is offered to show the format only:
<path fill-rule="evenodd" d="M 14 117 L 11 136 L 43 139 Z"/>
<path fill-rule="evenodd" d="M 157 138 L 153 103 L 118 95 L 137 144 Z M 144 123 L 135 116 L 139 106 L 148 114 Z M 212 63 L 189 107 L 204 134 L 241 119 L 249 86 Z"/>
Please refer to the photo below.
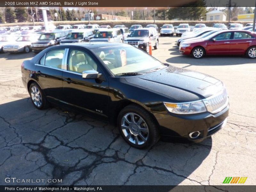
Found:
<path fill-rule="evenodd" d="M 98 30 L 94 37 L 90 40 L 90 42 L 92 41 L 123 43 L 124 40 L 120 29 L 112 28 Z"/>

